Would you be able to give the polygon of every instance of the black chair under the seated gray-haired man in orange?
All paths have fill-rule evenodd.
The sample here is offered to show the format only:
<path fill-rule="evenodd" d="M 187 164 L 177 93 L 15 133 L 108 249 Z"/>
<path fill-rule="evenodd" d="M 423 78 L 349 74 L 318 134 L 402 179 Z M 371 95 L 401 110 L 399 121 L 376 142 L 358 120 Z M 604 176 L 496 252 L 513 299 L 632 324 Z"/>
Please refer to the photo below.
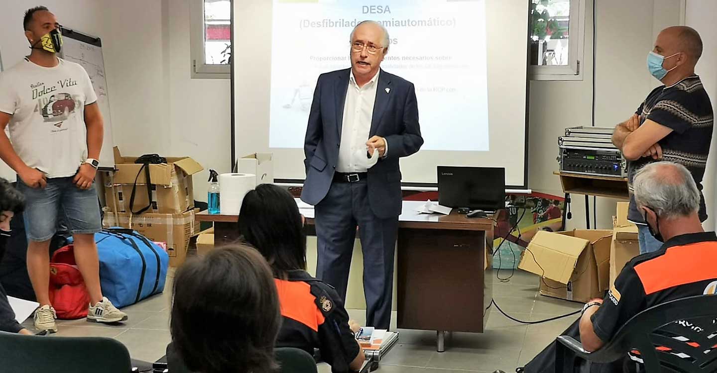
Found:
<path fill-rule="evenodd" d="M 632 317 L 612 341 L 596 352 L 586 352 L 571 336 L 559 336 L 555 366 L 556 369 L 562 367 L 562 372 L 573 373 L 579 359 L 609 363 L 625 359 L 627 352 L 637 350 L 646 372 L 717 372 L 716 320 L 717 296 L 690 296 L 668 301 Z M 665 326 L 682 321 L 702 321 L 699 325 L 707 329 L 683 328 L 680 335 L 665 329 Z"/>

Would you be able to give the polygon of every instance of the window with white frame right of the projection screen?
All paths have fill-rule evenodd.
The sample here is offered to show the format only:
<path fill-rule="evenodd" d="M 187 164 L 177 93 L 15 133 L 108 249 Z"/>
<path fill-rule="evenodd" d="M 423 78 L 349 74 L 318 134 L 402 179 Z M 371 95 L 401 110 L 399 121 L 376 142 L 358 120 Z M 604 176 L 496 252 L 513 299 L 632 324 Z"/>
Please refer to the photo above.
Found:
<path fill-rule="evenodd" d="M 531 0 L 531 79 L 582 79 L 584 18 L 584 0 Z"/>

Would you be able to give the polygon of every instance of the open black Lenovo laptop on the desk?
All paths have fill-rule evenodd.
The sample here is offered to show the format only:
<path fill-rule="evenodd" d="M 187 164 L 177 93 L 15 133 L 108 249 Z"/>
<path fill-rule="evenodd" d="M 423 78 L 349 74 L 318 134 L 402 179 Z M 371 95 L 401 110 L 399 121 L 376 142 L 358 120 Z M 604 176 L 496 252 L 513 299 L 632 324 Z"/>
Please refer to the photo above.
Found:
<path fill-rule="evenodd" d="M 505 168 L 438 166 L 438 203 L 495 212 L 505 208 Z"/>

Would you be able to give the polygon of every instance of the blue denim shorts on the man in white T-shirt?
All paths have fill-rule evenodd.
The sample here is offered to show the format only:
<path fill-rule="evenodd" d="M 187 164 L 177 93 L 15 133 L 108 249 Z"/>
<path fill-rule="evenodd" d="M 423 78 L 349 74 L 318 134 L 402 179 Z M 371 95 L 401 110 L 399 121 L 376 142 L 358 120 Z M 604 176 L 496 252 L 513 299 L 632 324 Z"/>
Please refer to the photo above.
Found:
<path fill-rule="evenodd" d="M 94 234 L 102 231 L 100 202 L 92 188 L 82 190 L 72 183 L 73 177 L 47 179 L 43 189 L 30 188 L 17 178 L 17 189 L 25 195 L 23 213 L 27 239 L 44 242 L 52 238 L 60 223 L 72 234 Z"/>

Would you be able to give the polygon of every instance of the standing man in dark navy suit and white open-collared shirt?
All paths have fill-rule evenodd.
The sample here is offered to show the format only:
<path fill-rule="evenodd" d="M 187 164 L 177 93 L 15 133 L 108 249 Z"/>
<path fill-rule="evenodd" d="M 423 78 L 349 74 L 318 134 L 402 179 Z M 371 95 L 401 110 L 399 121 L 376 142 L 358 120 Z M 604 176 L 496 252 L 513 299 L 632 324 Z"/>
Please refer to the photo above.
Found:
<path fill-rule="evenodd" d="M 346 299 L 353 240 L 364 252 L 366 325 L 391 322 L 401 214 L 399 158 L 423 145 L 414 85 L 381 70 L 389 34 L 375 21 L 351 32 L 351 69 L 321 74 L 304 143 L 301 199 L 315 205 L 316 275 Z"/>

